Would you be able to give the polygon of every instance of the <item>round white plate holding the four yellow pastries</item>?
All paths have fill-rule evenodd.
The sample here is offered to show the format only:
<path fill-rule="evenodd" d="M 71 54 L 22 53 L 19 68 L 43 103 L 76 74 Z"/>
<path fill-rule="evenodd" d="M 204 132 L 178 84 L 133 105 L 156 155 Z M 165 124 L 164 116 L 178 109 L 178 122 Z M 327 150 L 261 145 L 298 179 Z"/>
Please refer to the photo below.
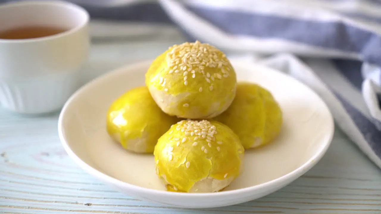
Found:
<path fill-rule="evenodd" d="M 211 208 L 243 203 L 275 192 L 307 172 L 322 158 L 333 137 L 333 118 L 325 103 L 307 86 L 256 64 L 232 64 L 238 80 L 269 89 L 279 102 L 284 125 L 277 140 L 246 151 L 244 172 L 223 192 L 166 192 L 155 175 L 153 155 L 136 155 L 106 133 L 106 111 L 128 89 L 144 85 L 151 61 L 107 73 L 79 89 L 62 109 L 59 137 L 71 158 L 116 190 L 160 204 Z"/>

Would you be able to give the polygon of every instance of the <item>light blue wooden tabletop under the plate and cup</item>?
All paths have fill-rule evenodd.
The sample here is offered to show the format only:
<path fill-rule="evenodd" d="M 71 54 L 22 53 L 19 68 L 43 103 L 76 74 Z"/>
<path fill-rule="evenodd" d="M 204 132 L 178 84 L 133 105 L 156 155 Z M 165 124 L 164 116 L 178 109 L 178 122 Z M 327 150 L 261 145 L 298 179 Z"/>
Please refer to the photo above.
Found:
<path fill-rule="evenodd" d="M 84 81 L 130 62 L 152 59 L 181 42 L 177 37 L 98 41 Z M 135 200 L 86 174 L 62 148 L 57 120 L 58 113 L 21 117 L 0 109 L 0 213 L 381 213 L 381 170 L 337 127 L 323 159 L 282 190 L 236 206 L 177 209 Z"/>

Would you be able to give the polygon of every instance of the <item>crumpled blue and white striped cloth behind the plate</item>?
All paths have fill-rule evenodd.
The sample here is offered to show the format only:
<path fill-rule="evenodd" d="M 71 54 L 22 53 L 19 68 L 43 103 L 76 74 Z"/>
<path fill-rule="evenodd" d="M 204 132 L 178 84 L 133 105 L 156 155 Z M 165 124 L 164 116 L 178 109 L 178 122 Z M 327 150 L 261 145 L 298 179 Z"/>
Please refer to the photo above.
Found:
<path fill-rule="evenodd" d="M 381 168 L 381 0 L 71 2 L 89 11 L 94 37 L 174 28 L 189 41 L 237 53 L 232 58 L 289 73 L 322 97 L 338 126 Z"/>

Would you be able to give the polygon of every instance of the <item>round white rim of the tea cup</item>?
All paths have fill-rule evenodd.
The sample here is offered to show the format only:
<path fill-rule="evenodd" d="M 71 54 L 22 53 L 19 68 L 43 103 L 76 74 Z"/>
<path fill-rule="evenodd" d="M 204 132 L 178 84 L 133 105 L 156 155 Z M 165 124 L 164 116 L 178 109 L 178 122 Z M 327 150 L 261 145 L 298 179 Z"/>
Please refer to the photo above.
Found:
<path fill-rule="evenodd" d="M 5 8 L 13 8 L 13 7 L 22 7 L 26 5 L 55 5 L 55 6 L 69 6 L 71 8 L 76 9 L 78 12 L 83 13 L 85 15 L 85 21 L 73 28 L 70 28 L 69 30 L 66 30 L 64 32 L 46 36 L 46 37 L 38 37 L 38 38 L 26 38 L 26 39 L 2 39 L 0 38 L 0 43 L 29 43 L 29 42 L 42 42 L 46 40 L 53 40 L 59 37 L 64 37 L 66 35 L 70 35 L 83 27 L 88 25 L 88 22 L 90 20 L 90 15 L 88 11 L 85 10 L 82 6 L 76 5 L 71 2 L 67 2 L 64 0 L 21 0 L 18 2 L 8 2 L 5 3 L 4 5 L 0 5 L 0 9 L 5 9 Z"/>

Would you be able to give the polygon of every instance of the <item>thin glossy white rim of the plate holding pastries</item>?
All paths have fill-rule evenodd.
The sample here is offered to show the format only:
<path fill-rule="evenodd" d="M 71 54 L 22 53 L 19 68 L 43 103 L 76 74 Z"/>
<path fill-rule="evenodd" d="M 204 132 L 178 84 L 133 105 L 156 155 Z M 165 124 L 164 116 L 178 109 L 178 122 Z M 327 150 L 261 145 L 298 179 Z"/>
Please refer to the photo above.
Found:
<path fill-rule="evenodd" d="M 66 115 L 67 108 L 70 106 L 71 102 L 75 97 L 78 96 L 78 94 L 82 93 L 83 90 L 86 88 L 90 87 L 91 85 L 94 85 L 101 81 L 103 78 L 111 78 L 113 76 L 119 75 L 120 73 L 126 72 L 126 70 L 132 70 L 134 67 L 142 67 L 145 65 L 149 65 L 152 63 L 152 60 L 144 60 L 136 63 L 131 63 L 124 65 L 122 67 L 119 67 L 117 69 L 113 69 L 110 72 L 104 73 L 93 80 L 85 83 L 83 86 L 81 86 L 77 91 L 75 91 L 74 94 L 72 94 L 69 99 L 66 101 L 64 106 L 62 107 L 62 110 L 59 114 L 58 118 L 58 136 L 61 141 L 62 146 L 64 147 L 65 151 L 69 155 L 72 160 L 78 166 L 80 166 L 84 171 L 86 171 L 88 174 L 91 174 L 92 176 L 96 177 L 97 179 L 101 179 L 103 182 L 110 183 L 114 186 L 119 186 L 123 187 L 126 189 L 132 189 L 133 192 L 135 193 L 144 193 L 144 194 L 149 194 L 149 195 L 160 195 L 160 196 L 175 196 L 175 197 L 182 197 L 182 198 L 210 198 L 210 197 L 218 197 L 218 196 L 231 196 L 231 195 L 242 195 L 245 193 L 250 193 L 250 192 L 255 192 L 256 190 L 263 189 L 263 190 L 268 190 L 268 189 L 273 189 L 271 187 L 278 186 L 276 184 L 290 184 L 294 180 L 298 179 L 300 176 L 305 174 L 307 171 L 309 171 L 313 166 L 315 166 L 319 161 L 322 159 L 322 157 L 325 155 L 327 152 L 328 148 L 331 145 L 331 142 L 333 140 L 333 136 L 335 133 L 335 124 L 334 124 L 334 119 L 332 116 L 332 113 L 330 109 L 328 108 L 328 105 L 324 102 L 324 100 L 317 94 L 314 90 L 312 90 L 309 86 L 305 85 L 303 82 L 283 73 L 280 72 L 279 70 L 273 69 L 271 67 L 267 67 L 265 65 L 261 65 L 255 62 L 245 62 L 245 61 L 240 61 L 240 60 L 230 60 L 231 63 L 236 66 L 242 66 L 242 67 L 251 67 L 251 69 L 255 70 L 256 69 L 263 69 L 263 70 L 271 70 L 274 73 L 277 73 L 277 75 L 283 75 L 283 77 L 291 80 L 291 81 L 296 81 L 298 84 L 303 85 L 304 87 L 308 88 L 312 93 L 314 93 L 317 97 L 319 97 L 320 101 L 322 102 L 323 106 L 327 110 L 327 113 L 329 115 L 330 120 L 327 121 L 328 125 L 331 127 L 330 128 L 330 133 L 329 133 L 329 138 L 328 141 L 325 143 L 323 147 L 321 147 L 311 158 L 309 158 L 308 161 L 303 163 L 301 166 L 298 168 L 294 169 L 291 172 L 288 172 L 287 174 L 277 177 L 276 179 L 264 182 L 262 184 L 250 186 L 250 187 L 245 187 L 245 188 L 240 188 L 240 189 L 235 189 L 235 190 L 227 190 L 227 191 L 221 191 L 221 192 L 213 192 L 213 193 L 181 193 L 181 192 L 169 192 L 169 191 L 163 191 L 163 190 L 155 190 L 151 188 L 146 188 L 146 187 L 140 187 L 138 185 L 134 184 L 129 184 L 127 182 L 123 182 L 121 180 L 118 180 L 114 177 L 111 177 L 107 174 L 104 174 L 103 172 L 99 171 L 98 169 L 93 168 L 89 164 L 87 164 L 85 161 L 83 161 L 80 157 L 78 157 L 77 154 L 73 152 L 73 150 L 70 148 L 69 144 L 66 141 L 66 137 L 64 135 L 64 129 L 63 129 L 63 119 Z M 281 186 L 280 188 L 284 187 L 285 185 Z M 276 188 L 274 191 L 279 190 L 280 188 Z M 266 194 L 267 195 L 267 194 Z"/>

